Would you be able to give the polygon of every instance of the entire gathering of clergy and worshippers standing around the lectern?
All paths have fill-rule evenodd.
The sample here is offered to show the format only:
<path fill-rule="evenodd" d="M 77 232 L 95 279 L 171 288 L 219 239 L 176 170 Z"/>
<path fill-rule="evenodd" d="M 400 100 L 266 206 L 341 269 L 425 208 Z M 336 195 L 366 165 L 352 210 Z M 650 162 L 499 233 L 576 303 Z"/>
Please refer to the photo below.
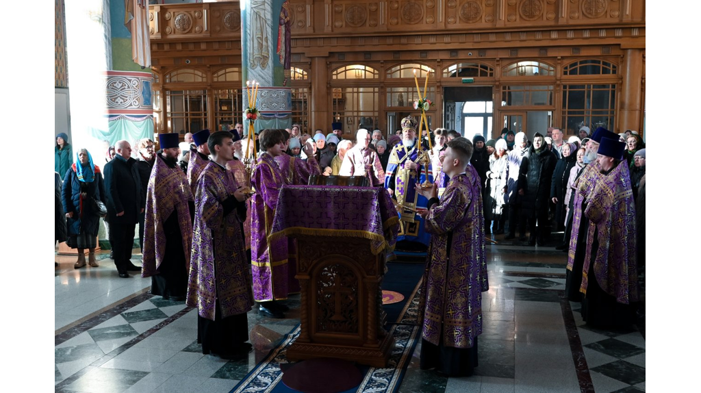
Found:
<path fill-rule="evenodd" d="M 409 116 L 387 140 L 363 128 L 355 141 L 341 130 L 312 137 L 294 125 L 262 130 L 252 146 L 240 124 L 187 134 L 184 142 L 178 133 L 159 134 L 157 152 L 151 139 L 139 140 L 133 155 L 125 140 L 109 146 L 102 169 L 86 149 L 73 163 L 61 133 L 55 240 L 77 249 L 74 268 L 86 266 L 86 249 L 87 264 L 99 266 L 104 218 L 118 276 L 141 272 L 151 277 L 151 294 L 197 308 L 203 353 L 238 359 L 252 347 L 247 312 L 254 303 L 261 315 L 285 317 L 284 300 L 300 290 L 292 246 L 268 242 L 280 188 L 314 175 L 362 176 L 401 201 L 398 239 L 411 237 L 409 221 L 428 239 L 421 368 L 472 374 L 489 289 L 485 237 L 513 239 L 517 228 L 519 240 L 540 245 L 564 232 L 557 247 L 569 251 L 566 294 L 583 302 L 587 323 L 631 322 L 642 297 L 645 244 L 645 149 L 637 132 L 599 127 L 590 135 L 582 127 L 564 137 L 549 128 L 531 142 L 506 129 L 498 139 L 470 140 L 438 128 L 418 141 L 417 125 Z M 249 149 L 257 152 L 250 188 Z M 430 186 L 422 185 L 426 179 Z M 137 223 L 142 266 L 130 261 Z M 451 263 L 458 259 L 468 263 Z"/>

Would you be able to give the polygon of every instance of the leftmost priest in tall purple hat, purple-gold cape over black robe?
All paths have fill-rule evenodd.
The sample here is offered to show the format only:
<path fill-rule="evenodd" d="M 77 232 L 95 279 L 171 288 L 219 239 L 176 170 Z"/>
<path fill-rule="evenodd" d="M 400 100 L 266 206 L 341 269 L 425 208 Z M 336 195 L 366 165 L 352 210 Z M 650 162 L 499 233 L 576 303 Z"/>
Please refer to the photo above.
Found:
<path fill-rule="evenodd" d="M 146 192 L 144 210 L 144 266 L 142 277 L 151 277 L 151 294 L 185 300 L 187 270 L 192 244 L 193 195 L 187 177 L 177 165 L 177 134 L 159 134 L 161 151 Z"/>

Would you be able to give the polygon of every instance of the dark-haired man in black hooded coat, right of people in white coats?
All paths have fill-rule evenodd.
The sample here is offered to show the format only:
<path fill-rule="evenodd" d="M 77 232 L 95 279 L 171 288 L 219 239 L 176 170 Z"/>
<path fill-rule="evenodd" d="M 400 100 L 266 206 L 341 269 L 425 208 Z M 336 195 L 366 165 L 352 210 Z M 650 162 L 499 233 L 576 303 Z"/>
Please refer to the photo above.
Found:
<path fill-rule="evenodd" d="M 545 146 L 545 137 L 536 132 L 529 155 L 524 157 L 519 167 L 519 195 L 522 195 L 521 220 L 528 220 L 531 230 L 529 245 L 545 244 L 550 235 L 550 221 L 547 209 L 550 200 L 550 184 L 555 169 L 555 156 Z M 536 229 L 536 220 L 538 228 Z"/>

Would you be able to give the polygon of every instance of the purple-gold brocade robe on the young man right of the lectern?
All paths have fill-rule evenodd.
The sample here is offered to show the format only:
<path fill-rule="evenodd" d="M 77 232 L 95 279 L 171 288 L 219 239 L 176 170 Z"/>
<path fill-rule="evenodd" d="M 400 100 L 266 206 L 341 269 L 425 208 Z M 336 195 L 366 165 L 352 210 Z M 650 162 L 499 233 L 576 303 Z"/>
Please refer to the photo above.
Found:
<path fill-rule="evenodd" d="M 482 292 L 489 290 L 482 214 L 479 175 L 468 169 L 450 179 L 426 216 L 421 336 L 433 345 L 443 336 L 446 347 L 470 348 L 482 333 Z"/>

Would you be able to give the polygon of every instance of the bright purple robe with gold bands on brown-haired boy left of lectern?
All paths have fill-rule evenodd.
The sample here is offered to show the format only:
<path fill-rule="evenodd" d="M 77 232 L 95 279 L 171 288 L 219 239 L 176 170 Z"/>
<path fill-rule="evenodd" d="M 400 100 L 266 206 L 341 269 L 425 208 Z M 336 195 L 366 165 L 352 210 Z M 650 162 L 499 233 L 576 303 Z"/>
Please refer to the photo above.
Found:
<path fill-rule="evenodd" d="M 286 299 L 299 292 L 299 282 L 294 278 L 297 266 L 290 266 L 287 258 L 287 239 L 268 243 L 280 188 L 285 184 L 280 167 L 270 154 L 263 153 L 258 158 L 251 183 L 256 190 L 251 212 L 253 296 L 256 301 Z"/>

